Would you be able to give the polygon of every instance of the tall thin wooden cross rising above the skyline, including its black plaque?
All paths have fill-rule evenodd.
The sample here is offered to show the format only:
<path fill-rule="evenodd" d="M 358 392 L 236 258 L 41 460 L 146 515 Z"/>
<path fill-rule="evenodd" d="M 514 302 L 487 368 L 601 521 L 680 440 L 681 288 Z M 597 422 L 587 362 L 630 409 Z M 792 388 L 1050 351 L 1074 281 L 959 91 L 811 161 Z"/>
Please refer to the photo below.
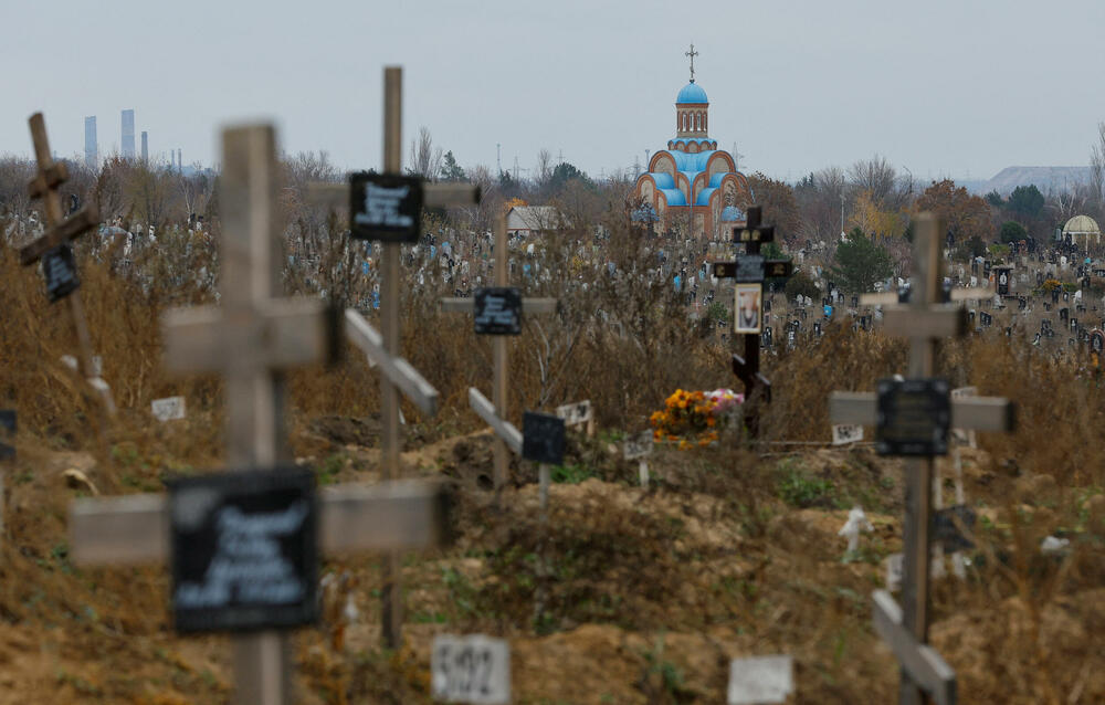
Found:
<path fill-rule="evenodd" d="M 387 210 L 383 204 L 372 201 L 375 194 L 387 196 L 389 190 L 402 191 L 411 188 L 420 191 L 422 203 L 430 207 L 463 206 L 480 202 L 480 187 L 471 183 L 422 183 L 420 179 L 407 179 L 404 182 L 396 181 L 402 170 L 402 86 L 403 74 L 400 66 L 388 66 L 383 70 L 383 175 L 381 182 L 389 179 L 394 181 L 391 189 L 369 183 L 358 185 L 360 179 L 370 178 L 355 176 L 350 187 L 354 191 L 350 197 L 350 187 L 329 183 L 314 183 L 311 186 L 312 199 L 317 202 L 328 202 L 330 204 L 350 206 L 349 220 L 354 227 L 352 236 L 365 240 L 380 240 L 367 232 L 375 231 L 383 223 L 372 222 L 371 227 L 365 228 L 365 234 L 360 234 L 359 221 L 367 217 L 366 199 L 373 204 L 368 208 L 376 209 L 380 206 L 380 211 Z M 365 197 L 358 198 L 358 189 L 365 188 Z M 394 206 L 390 203 L 388 206 Z M 414 209 L 420 211 L 420 209 Z M 377 212 L 380 212 L 377 211 Z M 391 222 L 403 219 L 402 213 L 391 213 Z M 399 333 L 400 305 L 400 250 L 402 242 L 417 243 L 421 232 L 421 213 L 413 212 L 408 215 L 409 221 L 403 232 L 398 232 L 398 228 L 391 230 L 387 240 L 383 241 L 383 255 L 380 269 L 380 318 L 382 334 L 378 333 L 360 314 L 355 311 L 346 312 L 347 333 L 350 339 L 358 345 L 369 360 L 380 366 L 380 415 L 382 432 L 380 434 L 380 451 L 383 461 L 383 476 L 392 480 L 400 475 L 401 469 L 399 455 L 402 443 L 399 436 L 400 408 L 399 391 L 418 406 L 423 412 L 433 415 L 438 410 L 438 391 L 410 366 L 401 355 L 401 338 Z M 371 219 L 369 219 L 371 220 Z M 389 218 L 385 218 L 385 221 Z M 386 646 L 394 649 L 402 640 L 402 588 L 400 583 L 401 564 L 399 554 L 391 554 L 385 564 L 383 590 L 382 590 L 382 623 L 381 636 Z"/>

